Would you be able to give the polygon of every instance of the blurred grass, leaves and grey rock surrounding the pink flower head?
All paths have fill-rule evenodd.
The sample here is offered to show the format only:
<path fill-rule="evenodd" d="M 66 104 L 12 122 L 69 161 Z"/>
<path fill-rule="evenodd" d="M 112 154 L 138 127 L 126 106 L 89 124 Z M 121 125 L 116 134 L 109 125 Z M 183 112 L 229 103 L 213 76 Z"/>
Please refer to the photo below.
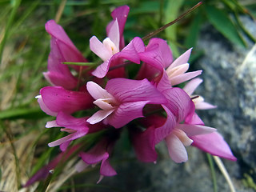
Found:
<path fill-rule="evenodd" d="M 36 191 L 21 186 L 50 159 L 58 147 L 47 143 L 59 130 L 46 129 L 52 117 L 34 98 L 48 86 L 50 35 L 45 23 L 55 19 L 78 50 L 92 60 L 89 39 L 106 38 L 110 13 L 130 6 L 124 36 L 126 44 L 144 37 L 196 5 L 195 0 L 0 0 L 0 190 Z M 237 162 L 223 160 L 236 191 L 256 191 L 256 2 L 254 0 L 203 1 L 202 6 L 156 37 L 169 43 L 174 58 L 190 47 L 190 70 L 202 69 L 198 89 L 218 109 L 202 111 L 206 126 L 213 126 L 229 143 Z M 218 166 L 206 154 L 190 147 L 189 161 L 176 164 L 165 146 L 158 146 L 158 163 L 135 159 L 121 139 L 112 164 L 118 175 L 98 181 L 98 167 L 80 174 L 67 164 L 50 182 L 48 191 L 230 191 Z M 115 155 L 117 154 L 117 155 Z M 41 182 L 48 186 L 49 182 Z"/>

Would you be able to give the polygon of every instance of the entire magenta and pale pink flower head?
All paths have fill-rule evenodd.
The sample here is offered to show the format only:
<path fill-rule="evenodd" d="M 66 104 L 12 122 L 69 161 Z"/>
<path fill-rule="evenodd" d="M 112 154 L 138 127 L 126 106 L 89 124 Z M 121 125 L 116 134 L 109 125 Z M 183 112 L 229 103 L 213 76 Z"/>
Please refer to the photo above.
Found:
<path fill-rule="evenodd" d="M 123 129 L 129 130 L 135 154 L 142 162 L 157 162 L 155 146 L 159 142 L 166 143 L 174 162 L 188 160 L 185 146 L 235 161 L 222 136 L 196 114 L 196 110 L 215 106 L 193 94 L 202 82 L 196 78 L 202 70 L 187 72 L 191 49 L 173 61 L 170 47 L 161 38 L 151 38 L 144 45 L 142 38 L 136 37 L 125 46 L 123 30 L 128 13 L 128 6 L 118 7 L 106 27 L 107 37 L 102 42 L 95 36 L 90 38 L 90 50 L 102 59 L 95 70 L 63 64 L 87 60 L 62 26 L 54 20 L 46 23 L 51 40 L 44 76 L 52 86 L 42 88 L 37 98 L 41 109 L 56 117 L 46 127 L 62 127 L 67 133 L 49 146 L 65 151 L 75 139 L 106 130 L 108 134 L 90 150 L 78 154 L 82 158 L 78 171 L 101 163 L 101 178 L 117 174 L 110 166 L 110 156 Z M 134 79 L 128 77 L 127 65 L 140 65 Z M 186 85 L 179 88 L 183 82 Z M 78 118 L 78 112 L 85 115 Z"/>

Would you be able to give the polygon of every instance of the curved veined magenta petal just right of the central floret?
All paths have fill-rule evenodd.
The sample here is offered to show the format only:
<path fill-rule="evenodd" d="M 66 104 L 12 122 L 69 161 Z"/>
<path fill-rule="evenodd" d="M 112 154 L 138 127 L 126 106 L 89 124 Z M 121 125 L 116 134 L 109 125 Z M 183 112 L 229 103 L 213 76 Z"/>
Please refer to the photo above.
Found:
<path fill-rule="evenodd" d="M 184 90 L 174 87 L 162 91 L 162 94 L 168 99 L 165 106 L 174 114 L 178 123 L 194 115 L 194 102 Z"/>

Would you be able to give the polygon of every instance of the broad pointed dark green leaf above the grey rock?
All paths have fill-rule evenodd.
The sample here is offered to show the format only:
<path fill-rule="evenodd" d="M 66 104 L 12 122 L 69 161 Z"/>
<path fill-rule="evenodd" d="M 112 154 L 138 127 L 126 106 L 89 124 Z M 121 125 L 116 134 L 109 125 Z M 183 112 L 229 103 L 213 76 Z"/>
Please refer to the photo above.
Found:
<path fill-rule="evenodd" d="M 206 14 L 210 23 L 228 38 L 230 42 L 246 47 L 246 43 L 224 10 L 218 10 L 214 6 L 206 6 Z"/>

